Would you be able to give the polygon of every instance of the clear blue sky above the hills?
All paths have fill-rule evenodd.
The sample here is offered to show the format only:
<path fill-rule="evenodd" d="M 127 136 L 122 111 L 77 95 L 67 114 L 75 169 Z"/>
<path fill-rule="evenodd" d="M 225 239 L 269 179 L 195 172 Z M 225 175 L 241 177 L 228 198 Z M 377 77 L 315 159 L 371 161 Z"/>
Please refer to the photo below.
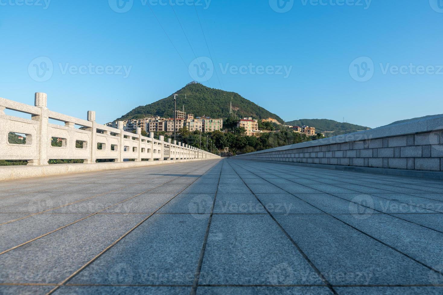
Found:
<path fill-rule="evenodd" d="M 106 123 L 209 60 L 203 84 L 287 121 L 377 127 L 443 113 L 443 0 L 199 0 L 204 35 L 192 0 L 26 1 L 0 0 L 3 98 L 46 92 L 51 110 Z"/>

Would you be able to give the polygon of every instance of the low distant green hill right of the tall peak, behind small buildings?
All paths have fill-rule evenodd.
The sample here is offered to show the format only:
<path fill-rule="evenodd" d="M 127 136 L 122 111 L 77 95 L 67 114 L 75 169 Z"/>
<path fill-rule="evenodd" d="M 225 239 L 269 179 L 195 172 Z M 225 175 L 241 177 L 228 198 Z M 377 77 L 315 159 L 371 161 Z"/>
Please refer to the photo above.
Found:
<path fill-rule="evenodd" d="M 286 125 L 300 126 L 300 127 L 303 125 L 308 125 L 315 127 L 316 132 L 332 131 L 332 134 L 329 135 L 338 135 L 338 134 L 356 132 L 359 130 L 370 129 L 369 127 L 361 125 L 341 123 L 328 119 L 301 119 L 301 120 L 286 122 Z"/>

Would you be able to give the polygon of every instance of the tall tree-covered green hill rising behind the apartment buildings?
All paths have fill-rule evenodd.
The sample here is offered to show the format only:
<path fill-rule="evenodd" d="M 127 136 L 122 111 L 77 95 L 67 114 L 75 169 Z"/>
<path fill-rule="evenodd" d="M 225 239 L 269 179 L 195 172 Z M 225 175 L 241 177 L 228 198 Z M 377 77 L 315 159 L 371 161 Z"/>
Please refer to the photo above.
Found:
<path fill-rule="evenodd" d="M 177 97 L 177 110 L 195 116 L 209 116 L 213 118 L 228 118 L 229 104 L 232 100 L 234 113 L 237 117 L 253 117 L 254 119 L 273 118 L 283 123 L 283 120 L 274 113 L 265 110 L 238 93 L 222 91 L 206 87 L 200 83 L 190 83 L 175 92 Z M 172 94 L 146 106 L 138 106 L 117 120 L 139 119 L 148 116 L 173 117 L 174 99 Z"/>

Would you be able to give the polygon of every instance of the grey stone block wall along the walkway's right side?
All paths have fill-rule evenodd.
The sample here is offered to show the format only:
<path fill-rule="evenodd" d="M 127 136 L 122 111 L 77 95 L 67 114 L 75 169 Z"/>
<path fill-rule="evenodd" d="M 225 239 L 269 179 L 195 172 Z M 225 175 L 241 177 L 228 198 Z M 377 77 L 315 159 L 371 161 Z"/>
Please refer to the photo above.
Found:
<path fill-rule="evenodd" d="M 443 171 L 443 116 L 256 151 L 236 158 Z"/>

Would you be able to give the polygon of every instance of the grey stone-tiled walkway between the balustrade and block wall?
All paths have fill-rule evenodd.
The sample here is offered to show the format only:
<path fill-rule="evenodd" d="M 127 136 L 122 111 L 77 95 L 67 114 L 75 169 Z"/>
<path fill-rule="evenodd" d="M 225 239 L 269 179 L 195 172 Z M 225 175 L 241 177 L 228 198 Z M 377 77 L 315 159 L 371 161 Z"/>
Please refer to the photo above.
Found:
<path fill-rule="evenodd" d="M 238 159 L 0 183 L 0 294 L 442 294 L 443 182 Z"/>

